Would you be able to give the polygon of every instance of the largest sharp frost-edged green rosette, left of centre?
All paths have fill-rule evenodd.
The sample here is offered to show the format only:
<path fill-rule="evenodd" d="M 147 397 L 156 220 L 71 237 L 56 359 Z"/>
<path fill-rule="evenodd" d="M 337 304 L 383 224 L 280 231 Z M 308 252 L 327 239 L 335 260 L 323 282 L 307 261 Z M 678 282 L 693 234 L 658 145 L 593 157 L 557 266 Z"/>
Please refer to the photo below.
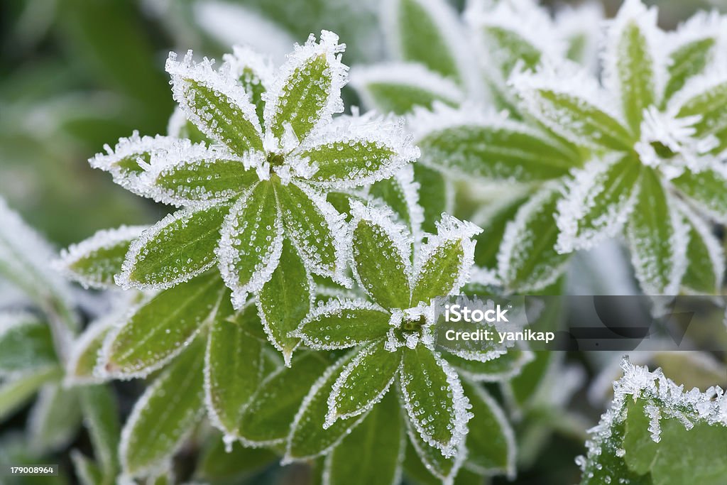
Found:
<path fill-rule="evenodd" d="M 333 119 L 348 69 L 337 41 L 310 36 L 277 71 L 249 49 L 218 70 L 169 55 L 174 100 L 193 124 L 177 131 L 209 141 L 134 135 L 91 160 L 134 193 L 182 207 L 132 242 L 119 285 L 169 288 L 217 264 L 241 308 L 287 244 L 308 273 L 345 283 L 342 220 L 325 192 L 390 177 L 418 151 L 395 119 Z"/>

